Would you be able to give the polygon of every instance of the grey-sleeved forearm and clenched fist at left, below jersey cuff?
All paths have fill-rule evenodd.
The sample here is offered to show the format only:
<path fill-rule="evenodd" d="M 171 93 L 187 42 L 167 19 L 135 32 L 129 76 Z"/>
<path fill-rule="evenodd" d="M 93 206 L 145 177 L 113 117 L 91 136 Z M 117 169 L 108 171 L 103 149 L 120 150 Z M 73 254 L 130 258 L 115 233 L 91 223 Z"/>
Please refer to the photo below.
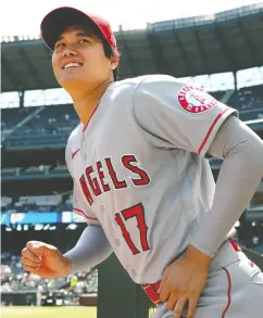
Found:
<path fill-rule="evenodd" d="M 22 250 L 25 270 L 43 278 L 65 277 L 95 267 L 112 253 L 101 227 L 87 226 L 77 244 L 64 255 L 53 245 L 29 241 Z"/>

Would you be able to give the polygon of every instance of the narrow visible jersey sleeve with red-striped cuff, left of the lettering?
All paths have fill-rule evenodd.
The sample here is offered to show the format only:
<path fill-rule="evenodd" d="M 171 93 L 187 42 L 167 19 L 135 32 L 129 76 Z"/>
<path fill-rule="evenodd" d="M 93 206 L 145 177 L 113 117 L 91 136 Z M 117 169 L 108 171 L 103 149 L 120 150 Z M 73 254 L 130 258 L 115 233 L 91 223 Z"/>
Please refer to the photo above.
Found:
<path fill-rule="evenodd" d="M 66 150 L 65 150 L 65 162 L 67 169 L 73 178 L 73 212 L 77 215 L 84 217 L 88 225 L 100 225 L 99 220 L 89 208 L 87 203 L 85 202 L 85 196 L 80 189 L 80 186 L 77 183 L 76 179 L 74 178 L 73 169 L 72 169 L 72 149 L 71 149 L 71 137 L 67 141 Z"/>

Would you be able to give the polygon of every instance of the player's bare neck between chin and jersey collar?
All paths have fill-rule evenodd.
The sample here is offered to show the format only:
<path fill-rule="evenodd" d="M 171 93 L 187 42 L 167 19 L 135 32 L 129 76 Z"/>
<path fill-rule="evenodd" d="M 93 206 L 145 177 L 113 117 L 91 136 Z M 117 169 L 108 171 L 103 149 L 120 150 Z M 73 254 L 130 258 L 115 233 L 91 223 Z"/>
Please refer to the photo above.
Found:
<path fill-rule="evenodd" d="M 84 125 L 89 120 L 102 96 L 111 84 L 112 81 L 109 80 L 102 82 L 92 90 L 83 91 L 82 93 L 71 93 L 74 109 Z"/>

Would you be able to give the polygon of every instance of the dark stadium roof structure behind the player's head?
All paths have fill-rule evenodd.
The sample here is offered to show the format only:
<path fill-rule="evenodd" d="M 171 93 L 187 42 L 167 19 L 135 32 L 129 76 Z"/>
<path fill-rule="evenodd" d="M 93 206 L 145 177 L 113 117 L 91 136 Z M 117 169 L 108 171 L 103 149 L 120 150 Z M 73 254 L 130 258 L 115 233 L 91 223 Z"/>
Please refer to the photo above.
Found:
<path fill-rule="evenodd" d="M 115 33 L 120 78 L 237 72 L 263 65 L 263 2 Z M 58 88 L 51 52 L 40 39 L 2 42 L 2 92 Z"/>

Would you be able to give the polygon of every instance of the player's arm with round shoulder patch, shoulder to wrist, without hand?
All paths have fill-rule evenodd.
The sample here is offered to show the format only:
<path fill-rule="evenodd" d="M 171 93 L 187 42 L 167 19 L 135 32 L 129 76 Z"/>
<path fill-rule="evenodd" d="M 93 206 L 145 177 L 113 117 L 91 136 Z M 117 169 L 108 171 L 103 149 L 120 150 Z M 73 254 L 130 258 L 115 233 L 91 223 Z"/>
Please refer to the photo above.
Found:
<path fill-rule="evenodd" d="M 251 200 L 263 175 L 263 141 L 237 111 L 171 76 L 149 76 L 134 98 L 135 119 L 158 149 L 223 158 L 210 213 L 192 246 L 212 258 Z"/>

